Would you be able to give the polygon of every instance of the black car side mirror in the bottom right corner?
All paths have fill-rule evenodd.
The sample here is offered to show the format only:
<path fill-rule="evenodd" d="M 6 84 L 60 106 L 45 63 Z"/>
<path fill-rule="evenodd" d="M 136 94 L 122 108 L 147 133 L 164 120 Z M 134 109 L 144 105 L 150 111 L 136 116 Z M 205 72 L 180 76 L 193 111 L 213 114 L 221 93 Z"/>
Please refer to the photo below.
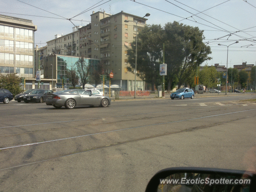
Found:
<path fill-rule="evenodd" d="M 216 168 L 168 168 L 157 172 L 146 192 L 252 192 L 255 172 Z"/>

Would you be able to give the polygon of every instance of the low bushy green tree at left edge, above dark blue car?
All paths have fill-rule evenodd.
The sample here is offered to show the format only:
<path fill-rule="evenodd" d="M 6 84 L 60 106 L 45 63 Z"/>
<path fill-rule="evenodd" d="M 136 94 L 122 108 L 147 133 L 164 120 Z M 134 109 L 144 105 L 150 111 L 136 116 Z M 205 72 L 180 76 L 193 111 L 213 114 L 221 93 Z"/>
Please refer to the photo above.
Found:
<path fill-rule="evenodd" d="M 22 92 L 20 82 L 21 78 L 14 73 L 0 74 L 0 88 L 9 90 L 14 96 Z"/>

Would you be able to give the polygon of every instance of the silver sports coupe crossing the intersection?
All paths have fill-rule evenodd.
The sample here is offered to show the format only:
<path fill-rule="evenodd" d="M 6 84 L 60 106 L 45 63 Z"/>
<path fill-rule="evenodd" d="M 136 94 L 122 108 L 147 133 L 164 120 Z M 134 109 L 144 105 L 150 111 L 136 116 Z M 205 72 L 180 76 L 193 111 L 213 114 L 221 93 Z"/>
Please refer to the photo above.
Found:
<path fill-rule="evenodd" d="M 47 95 L 46 105 L 52 105 L 55 108 L 65 106 L 67 109 L 73 109 L 75 106 L 102 106 L 110 105 L 111 99 L 107 96 L 91 94 L 85 90 L 63 90 Z"/>

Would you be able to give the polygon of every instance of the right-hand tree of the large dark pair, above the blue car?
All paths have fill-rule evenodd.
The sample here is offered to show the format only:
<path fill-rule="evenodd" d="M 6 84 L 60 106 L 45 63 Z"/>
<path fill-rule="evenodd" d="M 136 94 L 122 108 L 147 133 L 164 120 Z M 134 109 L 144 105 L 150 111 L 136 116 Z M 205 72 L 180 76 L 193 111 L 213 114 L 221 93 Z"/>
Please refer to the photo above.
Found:
<path fill-rule="evenodd" d="M 204 61 L 210 60 L 210 46 L 203 43 L 204 35 L 198 27 L 179 24 L 178 22 L 167 23 L 164 28 L 165 34 L 165 63 L 168 69 L 168 90 L 175 74 L 178 74 L 178 88 L 185 83 L 191 82 L 191 72 L 195 72 L 197 66 Z"/>

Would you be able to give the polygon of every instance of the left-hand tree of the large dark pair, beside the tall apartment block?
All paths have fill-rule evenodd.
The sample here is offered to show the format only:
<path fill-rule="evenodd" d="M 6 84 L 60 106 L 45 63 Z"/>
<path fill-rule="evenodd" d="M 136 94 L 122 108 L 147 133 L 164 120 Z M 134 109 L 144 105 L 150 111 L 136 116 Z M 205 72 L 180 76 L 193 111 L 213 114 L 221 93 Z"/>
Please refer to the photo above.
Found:
<path fill-rule="evenodd" d="M 154 86 L 160 84 L 160 61 L 162 60 L 162 40 L 161 26 L 147 25 L 137 36 L 137 76 L 146 83 Z M 132 48 L 128 50 L 128 62 L 130 67 L 127 69 L 132 72 L 135 70 L 136 41 L 132 42 Z"/>

